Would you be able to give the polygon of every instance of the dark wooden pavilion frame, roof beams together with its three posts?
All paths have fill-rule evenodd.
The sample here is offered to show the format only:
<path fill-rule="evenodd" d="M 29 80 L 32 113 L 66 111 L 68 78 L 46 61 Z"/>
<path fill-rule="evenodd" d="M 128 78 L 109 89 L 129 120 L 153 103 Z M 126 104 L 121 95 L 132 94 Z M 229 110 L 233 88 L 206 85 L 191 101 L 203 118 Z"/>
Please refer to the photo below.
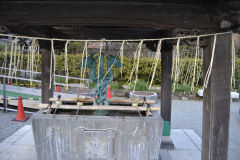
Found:
<path fill-rule="evenodd" d="M 0 32 L 78 39 L 153 38 L 240 31 L 240 2 L 234 0 L 1 1 Z M 204 73 L 212 39 L 204 45 Z M 186 42 L 187 43 L 187 42 Z M 227 160 L 230 118 L 231 34 L 219 35 L 203 100 L 202 160 Z M 59 43 L 59 45 L 62 45 Z M 171 124 L 172 43 L 162 48 L 161 115 Z M 40 41 L 42 102 L 49 89 L 50 42 Z M 154 50 L 155 43 L 147 46 Z M 53 85 L 52 85 L 53 86 Z M 170 135 L 170 130 L 166 132 Z"/>

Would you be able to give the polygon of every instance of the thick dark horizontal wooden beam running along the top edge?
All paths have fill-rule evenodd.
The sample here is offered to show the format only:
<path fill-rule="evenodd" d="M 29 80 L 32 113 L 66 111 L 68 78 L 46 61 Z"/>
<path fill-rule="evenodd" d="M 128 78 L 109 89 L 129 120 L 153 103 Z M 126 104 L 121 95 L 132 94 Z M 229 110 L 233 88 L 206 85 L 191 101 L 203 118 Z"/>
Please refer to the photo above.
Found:
<path fill-rule="evenodd" d="M 207 4 L 209 5 L 209 3 Z M 204 5 L 196 5 L 196 2 L 180 5 L 176 2 L 138 2 L 136 0 L 132 2 L 24 1 L 18 3 L 0 1 L 0 14 L 1 24 L 16 25 L 15 27 L 22 25 L 59 25 L 57 27 L 60 27 L 63 24 L 76 24 L 83 26 L 141 26 L 166 30 L 173 28 L 208 29 L 212 22 L 208 9 Z M 128 34 L 126 33 L 126 35 Z"/>

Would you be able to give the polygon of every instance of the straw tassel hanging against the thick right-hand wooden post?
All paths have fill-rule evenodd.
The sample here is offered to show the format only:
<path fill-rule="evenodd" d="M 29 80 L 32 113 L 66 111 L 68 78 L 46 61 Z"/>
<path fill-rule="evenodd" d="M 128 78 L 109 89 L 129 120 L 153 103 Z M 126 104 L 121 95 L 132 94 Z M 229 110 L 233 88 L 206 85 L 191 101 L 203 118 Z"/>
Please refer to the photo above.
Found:
<path fill-rule="evenodd" d="M 208 82 L 209 82 L 209 78 L 212 72 L 212 66 L 213 66 L 213 59 L 214 59 L 214 54 L 215 54 L 215 48 L 216 48 L 216 41 L 217 41 L 217 35 L 214 35 L 214 39 L 213 39 L 213 48 L 212 48 L 212 57 L 211 57 L 211 61 L 206 73 L 206 76 L 204 78 L 204 82 L 203 82 L 203 91 L 205 88 L 207 88 Z"/>

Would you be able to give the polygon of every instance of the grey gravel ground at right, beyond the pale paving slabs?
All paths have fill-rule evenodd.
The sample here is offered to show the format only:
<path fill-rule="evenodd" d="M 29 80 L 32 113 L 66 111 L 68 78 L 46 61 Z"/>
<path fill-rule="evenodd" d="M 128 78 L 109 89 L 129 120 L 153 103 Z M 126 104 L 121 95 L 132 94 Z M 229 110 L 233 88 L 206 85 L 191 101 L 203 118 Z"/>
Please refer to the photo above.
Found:
<path fill-rule="evenodd" d="M 231 103 L 230 132 L 229 132 L 229 160 L 240 157 L 240 103 Z M 173 100 L 172 128 L 190 128 L 200 137 L 202 136 L 202 101 Z"/>

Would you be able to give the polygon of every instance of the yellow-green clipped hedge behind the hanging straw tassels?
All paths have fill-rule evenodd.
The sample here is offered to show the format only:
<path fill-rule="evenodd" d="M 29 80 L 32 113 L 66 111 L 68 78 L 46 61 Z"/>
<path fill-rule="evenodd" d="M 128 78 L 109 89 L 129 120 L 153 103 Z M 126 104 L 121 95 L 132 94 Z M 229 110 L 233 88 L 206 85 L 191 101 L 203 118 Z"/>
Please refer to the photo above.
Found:
<path fill-rule="evenodd" d="M 78 65 L 81 62 L 82 55 L 81 54 L 68 54 L 68 68 L 69 68 L 69 76 L 73 77 L 80 77 L 81 70 L 78 69 Z M 0 53 L 0 64 L 3 63 L 4 55 L 3 53 Z M 36 58 L 37 59 L 37 58 Z M 8 62 L 10 58 L 8 57 Z M 143 82 L 149 82 L 150 78 L 152 76 L 151 73 L 151 67 L 152 67 L 153 58 L 141 58 L 139 61 L 139 70 L 138 70 L 138 79 Z M 194 63 L 193 58 L 185 58 L 180 59 L 180 62 L 183 64 L 184 71 L 182 74 L 180 74 L 179 77 L 179 84 L 183 84 L 186 86 L 190 85 L 192 76 L 193 76 L 193 67 L 192 65 Z M 134 59 L 124 57 L 124 67 L 123 67 L 123 73 L 121 76 L 120 69 L 113 68 L 114 72 L 114 81 L 120 82 L 120 84 L 126 84 L 127 80 L 130 77 Z M 197 60 L 198 66 L 202 63 L 200 59 Z M 41 62 L 37 62 L 38 64 L 38 70 L 40 71 L 40 65 Z M 161 60 L 159 60 L 156 70 L 156 75 L 153 81 L 153 86 L 160 86 L 161 84 Z M 26 69 L 27 66 L 27 55 L 24 55 L 24 62 L 23 62 L 24 68 Z M 89 72 L 89 69 L 87 69 L 87 73 Z M 56 74 L 64 75 L 64 55 L 56 55 Z M 186 75 L 189 78 L 189 80 L 184 84 L 184 81 L 186 79 Z M 88 77 L 88 76 L 87 76 Z M 132 76 L 132 81 L 135 80 L 135 74 Z M 74 82 L 73 80 L 70 80 L 70 82 Z M 202 86 L 203 84 L 203 73 L 202 69 L 200 72 L 200 79 L 198 83 L 195 83 L 195 86 Z M 236 58 L 236 88 L 239 89 L 240 84 L 240 58 Z"/>

